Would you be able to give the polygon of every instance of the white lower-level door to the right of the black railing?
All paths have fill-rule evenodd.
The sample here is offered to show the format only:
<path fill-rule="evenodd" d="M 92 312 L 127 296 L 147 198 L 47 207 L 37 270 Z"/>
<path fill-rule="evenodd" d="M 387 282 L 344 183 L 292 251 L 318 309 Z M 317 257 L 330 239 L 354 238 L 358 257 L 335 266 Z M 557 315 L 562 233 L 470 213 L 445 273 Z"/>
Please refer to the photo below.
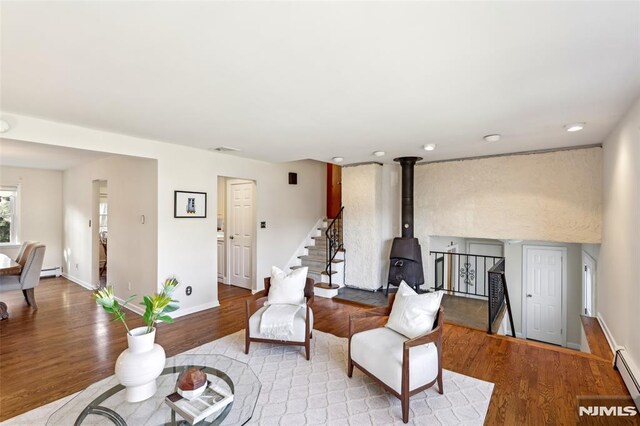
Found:
<path fill-rule="evenodd" d="M 526 248 L 527 338 L 562 345 L 562 249 Z"/>

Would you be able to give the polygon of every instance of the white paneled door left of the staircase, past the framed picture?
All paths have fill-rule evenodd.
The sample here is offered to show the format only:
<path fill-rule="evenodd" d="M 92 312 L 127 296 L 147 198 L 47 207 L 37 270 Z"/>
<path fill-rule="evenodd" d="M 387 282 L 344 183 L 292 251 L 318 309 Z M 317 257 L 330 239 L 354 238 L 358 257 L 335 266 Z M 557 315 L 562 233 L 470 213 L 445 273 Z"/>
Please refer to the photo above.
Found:
<path fill-rule="evenodd" d="M 230 180 L 227 186 L 229 284 L 251 288 L 255 237 L 254 183 Z"/>

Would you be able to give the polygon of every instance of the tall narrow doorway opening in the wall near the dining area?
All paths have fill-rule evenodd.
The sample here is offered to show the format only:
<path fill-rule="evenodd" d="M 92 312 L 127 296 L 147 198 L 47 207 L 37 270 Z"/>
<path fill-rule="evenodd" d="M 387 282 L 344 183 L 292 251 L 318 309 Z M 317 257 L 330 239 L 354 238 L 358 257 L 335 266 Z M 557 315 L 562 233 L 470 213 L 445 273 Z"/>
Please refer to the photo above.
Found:
<path fill-rule="evenodd" d="M 107 245 L 109 235 L 109 190 L 106 180 L 93 181 L 91 229 L 93 254 L 91 281 L 96 287 L 104 287 L 107 284 Z"/>

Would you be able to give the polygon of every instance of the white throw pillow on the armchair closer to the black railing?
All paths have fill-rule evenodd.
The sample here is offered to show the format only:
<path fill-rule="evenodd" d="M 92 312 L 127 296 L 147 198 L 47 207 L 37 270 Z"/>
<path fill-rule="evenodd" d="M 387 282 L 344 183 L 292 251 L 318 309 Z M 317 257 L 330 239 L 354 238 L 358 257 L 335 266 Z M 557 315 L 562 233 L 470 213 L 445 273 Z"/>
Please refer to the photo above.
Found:
<path fill-rule="evenodd" d="M 386 327 L 409 339 L 428 333 L 433 329 L 443 294 L 442 291 L 418 294 L 402 281 Z"/>

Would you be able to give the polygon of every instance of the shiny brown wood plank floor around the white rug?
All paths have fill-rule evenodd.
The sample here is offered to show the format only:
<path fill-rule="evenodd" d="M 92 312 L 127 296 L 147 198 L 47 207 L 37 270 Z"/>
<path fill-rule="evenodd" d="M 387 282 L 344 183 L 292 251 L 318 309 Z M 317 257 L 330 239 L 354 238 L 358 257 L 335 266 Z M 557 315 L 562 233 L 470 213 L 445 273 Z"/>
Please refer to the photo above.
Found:
<path fill-rule="evenodd" d="M 220 293 L 219 308 L 158 327 L 158 343 L 168 356 L 244 327 L 249 292 L 221 288 Z M 122 325 L 110 321 L 90 291 L 50 278 L 42 280 L 36 298 L 40 309 L 34 312 L 21 292 L 2 293 L 10 318 L 0 321 L 0 420 L 112 375 L 126 348 Z M 346 337 L 349 314 L 361 309 L 317 298 L 314 328 Z M 131 325 L 142 325 L 139 316 L 129 318 Z M 628 395 L 604 359 L 451 324 L 445 324 L 444 367 L 495 383 L 487 416 L 491 425 L 575 424 L 578 395 Z"/>

